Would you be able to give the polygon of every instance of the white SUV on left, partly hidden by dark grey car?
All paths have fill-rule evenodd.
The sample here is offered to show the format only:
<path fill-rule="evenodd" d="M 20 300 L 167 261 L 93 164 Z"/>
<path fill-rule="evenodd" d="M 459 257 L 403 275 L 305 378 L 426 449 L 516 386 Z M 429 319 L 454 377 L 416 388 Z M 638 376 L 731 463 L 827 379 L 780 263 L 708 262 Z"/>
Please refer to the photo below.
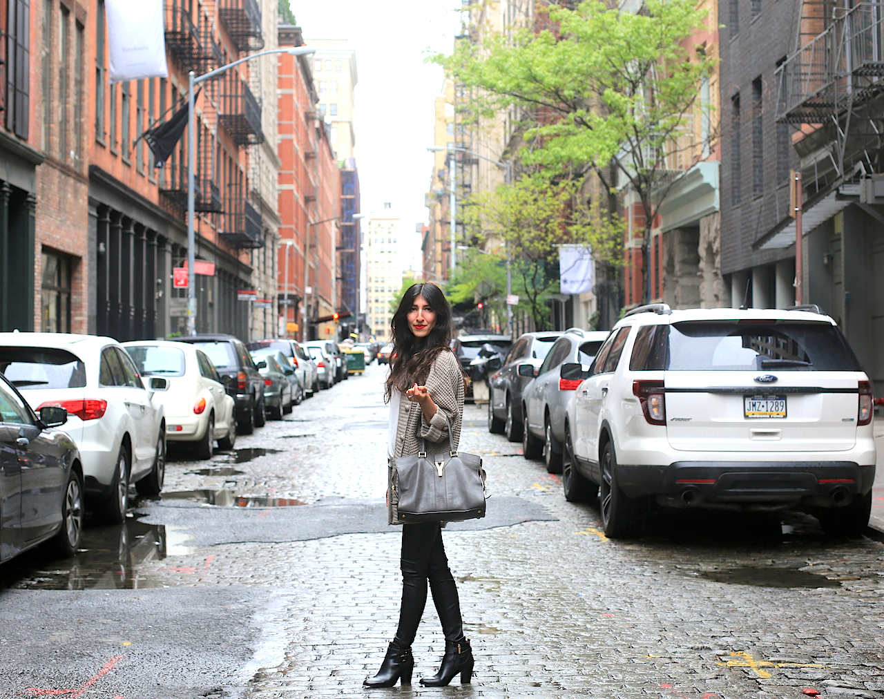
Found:
<path fill-rule="evenodd" d="M 129 483 L 142 495 L 163 489 L 166 380 L 141 382 L 112 338 L 50 332 L 0 333 L 0 371 L 37 412 L 61 406 L 61 428 L 80 449 L 84 491 L 102 519 L 126 517 Z"/>

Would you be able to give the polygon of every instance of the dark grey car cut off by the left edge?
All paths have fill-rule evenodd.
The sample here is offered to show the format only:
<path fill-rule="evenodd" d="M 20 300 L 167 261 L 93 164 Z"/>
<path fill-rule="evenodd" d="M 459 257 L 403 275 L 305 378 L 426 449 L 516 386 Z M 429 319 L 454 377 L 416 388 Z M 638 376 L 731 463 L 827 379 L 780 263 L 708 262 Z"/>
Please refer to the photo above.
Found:
<path fill-rule="evenodd" d="M 43 406 L 35 413 L 0 376 L 0 562 L 45 541 L 64 556 L 80 545 L 83 466 L 72 438 L 56 429 L 65 422 L 65 408 Z"/>

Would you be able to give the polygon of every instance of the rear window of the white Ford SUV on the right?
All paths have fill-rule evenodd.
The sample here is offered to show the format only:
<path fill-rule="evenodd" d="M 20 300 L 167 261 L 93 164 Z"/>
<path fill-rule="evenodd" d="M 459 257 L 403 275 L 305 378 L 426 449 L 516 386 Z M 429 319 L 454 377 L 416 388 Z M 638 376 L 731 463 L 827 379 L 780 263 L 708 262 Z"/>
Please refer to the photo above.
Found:
<path fill-rule="evenodd" d="M 862 370 L 831 323 L 691 321 L 670 325 L 667 339 L 655 354 L 669 371 Z"/>

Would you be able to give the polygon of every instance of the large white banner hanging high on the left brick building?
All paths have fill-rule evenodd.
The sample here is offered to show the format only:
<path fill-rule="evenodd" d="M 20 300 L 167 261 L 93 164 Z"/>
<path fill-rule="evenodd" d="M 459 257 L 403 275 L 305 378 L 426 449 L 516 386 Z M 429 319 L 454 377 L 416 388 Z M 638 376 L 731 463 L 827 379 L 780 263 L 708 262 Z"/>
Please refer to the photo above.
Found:
<path fill-rule="evenodd" d="M 105 0 L 110 82 L 168 78 L 163 0 Z"/>

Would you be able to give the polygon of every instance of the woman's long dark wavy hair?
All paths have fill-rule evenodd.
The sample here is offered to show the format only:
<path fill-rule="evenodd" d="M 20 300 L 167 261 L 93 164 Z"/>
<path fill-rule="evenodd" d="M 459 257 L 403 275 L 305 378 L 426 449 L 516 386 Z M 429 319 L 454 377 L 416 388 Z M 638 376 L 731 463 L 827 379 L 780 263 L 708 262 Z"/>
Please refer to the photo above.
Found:
<path fill-rule="evenodd" d="M 423 296 L 436 313 L 436 324 L 425 338 L 417 338 L 408 325 L 408 312 L 415 299 Z M 438 353 L 448 351 L 454 337 L 451 304 L 442 290 L 432 282 L 418 282 L 408 287 L 392 316 L 392 353 L 390 353 L 390 376 L 385 384 L 385 400 L 389 402 L 392 391 L 408 391 L 413 384 L 421 384 L 430 375 L 433 361 Z"/>

